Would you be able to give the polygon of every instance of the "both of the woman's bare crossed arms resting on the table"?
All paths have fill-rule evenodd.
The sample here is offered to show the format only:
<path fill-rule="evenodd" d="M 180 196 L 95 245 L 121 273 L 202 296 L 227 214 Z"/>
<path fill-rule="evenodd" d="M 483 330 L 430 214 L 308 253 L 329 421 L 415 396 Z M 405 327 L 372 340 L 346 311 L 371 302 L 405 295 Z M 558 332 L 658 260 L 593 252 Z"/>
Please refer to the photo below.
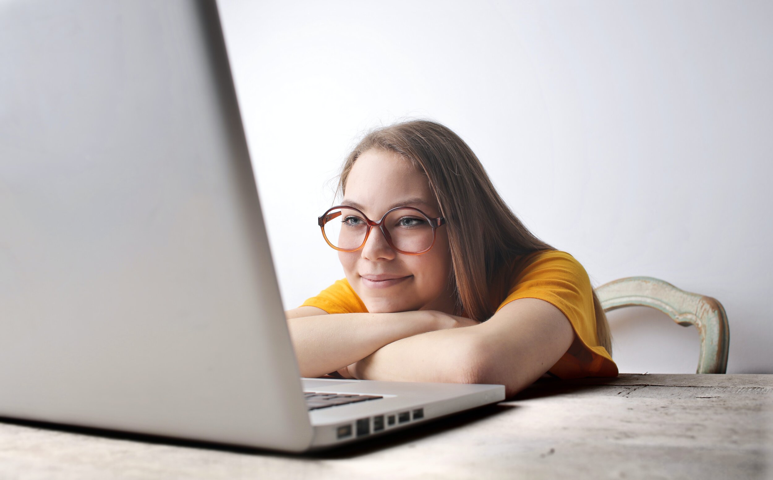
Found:
<path fill-rule="evenodd" d="M 512 397 L 569 350 L 574 330 L 541 299 L 516 299 L 484 323 L 429 310 L 329 315 L 288 310 L 302 377 L 502 384 Z"/>

